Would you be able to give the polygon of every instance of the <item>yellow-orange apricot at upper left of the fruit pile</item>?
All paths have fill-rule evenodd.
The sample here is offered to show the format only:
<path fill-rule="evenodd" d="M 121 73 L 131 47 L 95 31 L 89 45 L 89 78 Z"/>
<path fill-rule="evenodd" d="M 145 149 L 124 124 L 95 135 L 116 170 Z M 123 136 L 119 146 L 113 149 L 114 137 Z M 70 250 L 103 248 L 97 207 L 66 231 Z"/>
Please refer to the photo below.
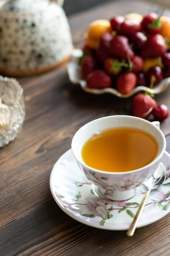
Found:
<path fill-rule="evenodd" d="M 100 37 L 105 32 L 112 32 L 110 21 L 95 20 L 92 22 L 87 32 L 87 43 L 89 47 L 97 49 L 99 47 Z"/>

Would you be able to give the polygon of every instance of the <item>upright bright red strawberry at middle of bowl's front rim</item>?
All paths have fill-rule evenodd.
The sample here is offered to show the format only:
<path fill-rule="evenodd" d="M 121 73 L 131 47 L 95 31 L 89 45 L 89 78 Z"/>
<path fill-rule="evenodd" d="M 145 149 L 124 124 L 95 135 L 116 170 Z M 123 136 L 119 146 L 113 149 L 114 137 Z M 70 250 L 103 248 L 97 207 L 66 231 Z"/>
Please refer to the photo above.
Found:
<path fill-rule="evenodd" d="M 136 86 L 137 77 L 132 72 L 122 73 L 117 81 L 116 87 L 119 93 L 127 94 Z"/>

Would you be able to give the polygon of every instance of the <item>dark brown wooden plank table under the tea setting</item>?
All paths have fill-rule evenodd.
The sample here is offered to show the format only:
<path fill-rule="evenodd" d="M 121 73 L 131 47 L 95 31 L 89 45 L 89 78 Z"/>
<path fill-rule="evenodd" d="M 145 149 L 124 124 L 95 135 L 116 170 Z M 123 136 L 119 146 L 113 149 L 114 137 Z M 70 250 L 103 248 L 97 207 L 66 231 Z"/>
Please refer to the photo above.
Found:
<path fill-rule="evenodd" d="M 98 18 L 145 14 L 158 6 L 117 0 L 69 18 L 75 47 L 82 31 Z M 165 15 L 170 11 L 165 11 Z M 99 230 L 74 221 L 54 202 L 49 176 L 56 160 L 71 147 L 74 133 L 102 116 L 130 114 L 132 99 L 94 96 L 68 81 L 65 67 L 19 79 L 26 120 L 14 142 L 0 149 L 0 256 L 155 256 L 170 255 L 170 215 L 136 230 Z M 156 96 L 170 109 L 170 87 Z M 170 118 L 161 124 L 170 152 Z"/>

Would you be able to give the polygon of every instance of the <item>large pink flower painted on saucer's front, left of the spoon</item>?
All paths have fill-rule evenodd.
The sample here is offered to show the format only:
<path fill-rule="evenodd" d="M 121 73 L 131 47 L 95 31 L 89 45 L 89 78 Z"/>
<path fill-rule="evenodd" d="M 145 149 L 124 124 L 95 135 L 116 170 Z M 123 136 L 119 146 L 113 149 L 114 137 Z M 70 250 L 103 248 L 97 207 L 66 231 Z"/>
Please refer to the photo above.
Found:
<path fill-rule="evenodd" d="M 95 202 L 94 200 L 87 200 L 87 208 L 94 212 L 99 217 L 108 217 L 106 212 L 106 205 L 102 202 Z"/>

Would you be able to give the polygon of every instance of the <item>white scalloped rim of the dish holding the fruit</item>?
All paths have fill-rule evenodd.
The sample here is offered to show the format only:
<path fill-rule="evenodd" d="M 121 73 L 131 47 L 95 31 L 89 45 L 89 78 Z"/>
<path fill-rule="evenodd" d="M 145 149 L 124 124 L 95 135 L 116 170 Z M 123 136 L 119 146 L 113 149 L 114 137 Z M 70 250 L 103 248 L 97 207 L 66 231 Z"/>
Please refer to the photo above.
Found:
<path fill-rule="evenodd" d="M 159 84 L 157 84 L 153 89 L 150 89 L 146 86 L 135 87 L 130 93 L 122 94 L 114 88 L 105 88 L 105 89 L 91 89 L 87 87 L 86 81 L 83 80 L 81 67 L 79 66 L 79 58 L 81 58 L 83 52 L 81 49 L 74 49 L 71 54 L 71 59 L 67 66 L 68 77 L 72 84 L 80 84 L 82 90 L 93 93 L 93 94 L 103 94 L 111 93 L 119 98 L 128 98 L 133 96 L 136 93 L 147 91 L 153 94 L 162 93 L 170 84 L 170 77 L 163 79 Z"/>

